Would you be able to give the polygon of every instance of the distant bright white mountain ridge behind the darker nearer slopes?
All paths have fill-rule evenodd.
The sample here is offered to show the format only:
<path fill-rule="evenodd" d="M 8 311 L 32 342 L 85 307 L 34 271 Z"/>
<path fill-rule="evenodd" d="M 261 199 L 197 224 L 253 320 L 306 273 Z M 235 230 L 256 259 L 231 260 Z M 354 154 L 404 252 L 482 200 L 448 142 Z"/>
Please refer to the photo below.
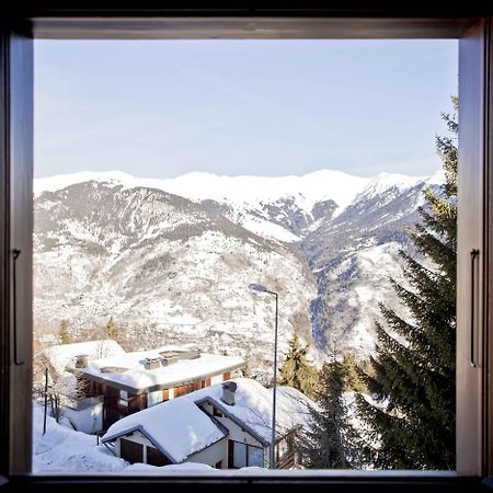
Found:
<path fill-rule="evenodd" d="M 88 180 L 165 191 L 216 208 L 233 222 L 282 242 L 299 241 L 317 219 L 336 216 L 369 182 L 341 171 L 303 176 L 218 176 L 194 172 L 175 179 L 136 179 L 122 172 L 74 173 L 38 179 L 35 193 Z"/>

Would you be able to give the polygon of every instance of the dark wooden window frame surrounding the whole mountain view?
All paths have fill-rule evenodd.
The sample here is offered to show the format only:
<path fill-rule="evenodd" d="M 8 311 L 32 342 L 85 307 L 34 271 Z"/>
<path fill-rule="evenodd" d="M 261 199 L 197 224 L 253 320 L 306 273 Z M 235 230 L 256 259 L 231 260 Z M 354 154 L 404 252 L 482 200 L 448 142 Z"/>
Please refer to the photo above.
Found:
<path fill-rule="evenodd" d="M 0 36 L 0 485 L 135 489 L 156 482 L 250 490 L 261 485 L 331 491 L 480 491 L 492 483 L 493 397 L 493 37 L 492 8 L 436 8 L 356 2 L 310 9 L 197 9 L 187 3 L 134 8 L 112 2 L 7 5 Z M 432 3 L 432 2 L 428 2 Z M 45 7 L 41 7 L 41 5 Z M 352 4 L 354 7 L 352 7 Z M 458 38 L 460 87 L 458 254 L 458 460 L 455 472 L 301 471 L 259 477 L 41 477 L 31 470 L 33 37 L 41 38 Z M 467 197 L 467 205 L 465 199 Z M 471 279 L 471 251 L 479 250 Z M 474 284 L 472 284 L 474 282 Z M 471 299 L 472 298 L 472 299 Z M 473 310 L 471 307 L 474 307 Z M 472 322 L 471 322 L 472 320 Z M 472 325 L 472 326 L 471 326 Z M 471 355 L 471 345 L 474 352 Z M 471 360 L 472 359 L 472 360 Z"/>

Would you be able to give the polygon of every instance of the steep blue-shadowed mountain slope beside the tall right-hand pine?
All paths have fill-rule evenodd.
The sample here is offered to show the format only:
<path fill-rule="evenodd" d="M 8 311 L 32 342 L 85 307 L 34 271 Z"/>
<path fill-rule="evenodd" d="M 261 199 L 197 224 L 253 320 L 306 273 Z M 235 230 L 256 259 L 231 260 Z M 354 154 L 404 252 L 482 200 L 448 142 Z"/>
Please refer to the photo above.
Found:
<path fill-rule="evenodd" d="M 423 190 L 437 190 L 442 180 L 440 173 L 376 176 L 341 215 L 320 222 L 298 244 L 319 285 L 311 314 L 320 347 L 357 357 L 372 352 L 379 303 L 402 310 L 389 283 L 406 285 L 399 251 L 417 255 L 404 230 L 420 222 Z"/>

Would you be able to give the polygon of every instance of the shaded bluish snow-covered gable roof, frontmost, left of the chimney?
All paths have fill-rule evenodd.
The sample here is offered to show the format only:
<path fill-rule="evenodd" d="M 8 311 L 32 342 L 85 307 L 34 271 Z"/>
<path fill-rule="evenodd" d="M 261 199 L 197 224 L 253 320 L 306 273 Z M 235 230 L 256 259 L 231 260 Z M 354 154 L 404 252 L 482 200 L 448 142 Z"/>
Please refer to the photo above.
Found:
<path fill-rule="evenodd" d="M 134 431 L 142 433 L 175 463 L 226 436 L 204 411 L 186 399 L 173 399 L 117 421 L 102 442 Z"/>

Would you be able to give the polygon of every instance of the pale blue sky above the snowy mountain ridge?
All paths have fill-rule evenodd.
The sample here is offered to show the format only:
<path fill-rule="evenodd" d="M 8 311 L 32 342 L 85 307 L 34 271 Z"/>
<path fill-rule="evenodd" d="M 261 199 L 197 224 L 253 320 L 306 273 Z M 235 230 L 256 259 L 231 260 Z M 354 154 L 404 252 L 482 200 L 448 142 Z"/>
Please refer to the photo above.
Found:
<path fill-rule="evenodd" d="M 457 41 L 36 41 L 35 176 L 427 175 Z"/>

